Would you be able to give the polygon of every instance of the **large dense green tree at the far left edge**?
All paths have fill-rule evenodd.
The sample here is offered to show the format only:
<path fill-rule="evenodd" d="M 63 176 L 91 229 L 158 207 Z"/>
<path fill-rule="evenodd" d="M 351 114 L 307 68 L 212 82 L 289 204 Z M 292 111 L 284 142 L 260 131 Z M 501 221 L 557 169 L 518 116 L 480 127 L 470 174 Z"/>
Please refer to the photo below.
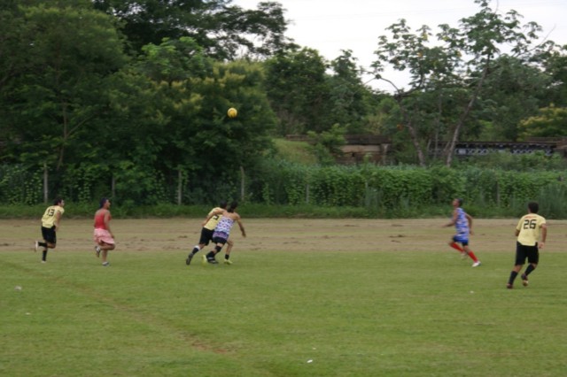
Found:
<path fill-rule="evenodd" d="M 0 73 L 7 78 L 0 88 L 0 122 L 14 141 L 7 155 L 57 170 L 66 156 L 82 158 L 81 135 L 104 112 L 108 77 L 127 61 L 113 19 L 82 3 L 65 4 L 22 6 L 13 13 L 19 27 L 2 48 L 13 58 Z"/>

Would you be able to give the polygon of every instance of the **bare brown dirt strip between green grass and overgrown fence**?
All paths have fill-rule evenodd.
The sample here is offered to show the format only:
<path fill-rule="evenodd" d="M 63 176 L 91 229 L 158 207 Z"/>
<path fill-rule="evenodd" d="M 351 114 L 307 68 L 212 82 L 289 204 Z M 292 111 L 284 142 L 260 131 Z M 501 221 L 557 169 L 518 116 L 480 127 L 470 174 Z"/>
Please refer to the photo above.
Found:
<path fill-rule="evenodd" d="M 187 251 L 198 242 L 202 219 L 113 219 L 117 251 Z M 244 219 L 247 237 L 237 226 L 234 252 L 249 251 L 380 251 L 447 250 L 454 228 L 448 219 Z M 517 219 L 475 219 L 473 250 L 513 252 Z M 567 241 L 567 221 L 548 221 L 549 252 Z M 0 220 L 0 251 L 33 250 L 41 237 L 38 220 Z M 90 250 L 92 220 L 63 219 L 58 250 Z"/>

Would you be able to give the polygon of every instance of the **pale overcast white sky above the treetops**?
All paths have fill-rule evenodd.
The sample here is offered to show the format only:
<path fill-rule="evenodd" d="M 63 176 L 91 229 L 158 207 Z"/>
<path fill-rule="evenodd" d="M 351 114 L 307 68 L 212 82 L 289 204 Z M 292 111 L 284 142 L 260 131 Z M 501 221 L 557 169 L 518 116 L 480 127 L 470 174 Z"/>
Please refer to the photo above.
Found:
<path fill-rule="evenodd" d="M 259 3 L 257 0 L 232 2 L 245 9 L 256 9 Z M 289 20 L 286 36 L 302 47 L 318 50 L 327 60 L 338 58 L 341 50 L 352 50 L 358 65 L 365 69 L 376 60 L 378 36 L 390 36 L 385 28 L 399 19 L 406 19 L 412 31 L 427 25 L 435 34 L 438 25 L 458 27 L 459 19 L 470 17 L 480 9 L 473 0 L 280 0 L 278 3 L 283 4 L 284 17 Z M 532 21 L 540 24 L 542 38 L 567 44 L 567 0 L 493 0 L 490 6 L 502 14 L 515 10 L 524 16 L 523 24 Z M 403 74 L 393 71 L 385 71 L 384 78 L 398 87 L 408 81 Z M 363 81 L 373 88 L 392 90 L 389 84 L 372 81 L 369 75 Z"/>

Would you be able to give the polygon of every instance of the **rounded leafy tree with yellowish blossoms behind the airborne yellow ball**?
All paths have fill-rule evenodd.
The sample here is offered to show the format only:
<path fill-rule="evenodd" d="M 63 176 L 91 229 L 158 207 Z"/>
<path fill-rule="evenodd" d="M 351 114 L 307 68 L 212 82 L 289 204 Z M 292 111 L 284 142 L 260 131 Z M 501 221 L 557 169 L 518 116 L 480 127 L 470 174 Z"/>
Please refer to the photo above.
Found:
<path fill-rule="evenodd" d="M 214 62 L 190 38 L 150 44 L 116 75 L 108 119 L 116 130 L 105 148 L 119 168 L 133 162 L 129 169 L 159 172 L 169 187 L 181 174 L 186 192 L 214 195 L 211 184 L 234 182 L 268 149 L 276 120 L 262 80 L 259 65 Z M 238 109 L 237 118 L 227 116 L 229 107 Z M 128 149 L 120 148 L 125 139 Z"/>

